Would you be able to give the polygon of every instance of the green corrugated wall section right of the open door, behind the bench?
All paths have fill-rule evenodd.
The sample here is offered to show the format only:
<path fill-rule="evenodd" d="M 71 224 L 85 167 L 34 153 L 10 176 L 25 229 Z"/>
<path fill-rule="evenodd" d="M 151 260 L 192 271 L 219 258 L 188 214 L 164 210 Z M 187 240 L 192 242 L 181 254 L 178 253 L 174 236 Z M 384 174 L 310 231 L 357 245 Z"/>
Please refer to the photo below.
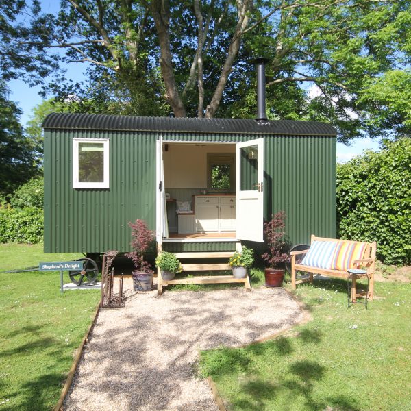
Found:
<path fill-rule="evenodd" d="M 336 138 L 273 136 L 265 149 L 265 215 L 286 212 L 293 244 L 335 238 Z"/>

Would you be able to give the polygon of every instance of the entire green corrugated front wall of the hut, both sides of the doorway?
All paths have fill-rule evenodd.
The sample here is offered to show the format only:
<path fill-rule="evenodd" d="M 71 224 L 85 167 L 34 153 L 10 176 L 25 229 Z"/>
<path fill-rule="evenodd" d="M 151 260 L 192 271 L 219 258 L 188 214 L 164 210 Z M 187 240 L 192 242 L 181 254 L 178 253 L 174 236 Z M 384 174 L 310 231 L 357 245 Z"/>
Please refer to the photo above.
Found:
<path fill-rule="evenodd" d="M 127 221 L 155 229 L 158 132 L 45 130 L 45 252 L 129 251 Z M 240 142 L 256 134 L 162 133 L 164 141 Z M 264 136 L 264 214 L 287 214 L 292 243 L 336 236 L 336 138 Z M 73 189 L 72 138 L 110 138 L 110 189 Z M 219 242 L 213 243 L 216 250 Z"/>

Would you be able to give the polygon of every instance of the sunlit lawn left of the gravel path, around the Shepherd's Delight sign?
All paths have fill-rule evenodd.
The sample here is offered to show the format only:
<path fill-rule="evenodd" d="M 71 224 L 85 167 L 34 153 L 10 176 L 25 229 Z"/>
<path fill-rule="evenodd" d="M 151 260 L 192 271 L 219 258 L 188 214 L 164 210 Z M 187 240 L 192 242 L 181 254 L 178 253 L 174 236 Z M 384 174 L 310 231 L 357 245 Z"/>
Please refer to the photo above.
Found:
<path fill-rule="evenodd" d="M 0 245 L 0 271 L 79 257 Z M 1 411 L 53 409 L 99 297 L 99 290 L 61 294 L 58 272 L 0 273 Z"/>

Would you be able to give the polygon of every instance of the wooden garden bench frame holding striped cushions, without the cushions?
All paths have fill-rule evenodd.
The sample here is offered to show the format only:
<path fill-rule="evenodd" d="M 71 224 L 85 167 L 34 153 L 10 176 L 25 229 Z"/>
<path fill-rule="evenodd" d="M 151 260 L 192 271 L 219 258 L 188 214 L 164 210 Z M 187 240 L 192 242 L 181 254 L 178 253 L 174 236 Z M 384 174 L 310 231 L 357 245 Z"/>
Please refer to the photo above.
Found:
<path fill-rule="evenodd" d="M 346 242 L 350 245 L 353 244 L 360 244 L 364 245 L 364 256 L 363 258 L 353 260 L 351 262 L 351 266 L 347 268 L 355 268 L 360 269 L 363 268 L 367 271 L 369 275 L 369 299 L 373 299 L 374 297 L 374 271 L 375 271 L 375 255 L 377 251 L 377 243 L 376 242 L 360 242 L 360 241 L 348 241 L 348 240 L 336 240 L 334 238 L 324 238 L 324 237 L 316 237 L 314 234 L 311 236 L 311 246 L 313 245 L 314 241 L 332 241 L 332 242 Z M 338 269 L 323 269 L 316 266 L 309 266 L 301 264 L 302 258 L 308 250 L 304 251 L 292 251 L 291 255 L 291 285 L 292 288 L 295 289 L 297 284 L 301 284 L 303 282 L 310 282 L 312 283 L 313 275 L 325 275 L 327 277 L 336 277 L 336 278 L 343 278 L 347 279 L 347 270 L 338 270 Z M 297 260 L 299 258 L 299 260 Z M 297 279 L 297 271 L 303 271 L 305 273 L 309 273 L 308 278 L 301 278 Z M 353 284 L 352 284 L 352 299 L 356 301 L 357 297 L 362 297 L 365 295 L 365 292 L 358 292 L 356 288 L 356 280 L 357 277 L 353 276 Z"/>

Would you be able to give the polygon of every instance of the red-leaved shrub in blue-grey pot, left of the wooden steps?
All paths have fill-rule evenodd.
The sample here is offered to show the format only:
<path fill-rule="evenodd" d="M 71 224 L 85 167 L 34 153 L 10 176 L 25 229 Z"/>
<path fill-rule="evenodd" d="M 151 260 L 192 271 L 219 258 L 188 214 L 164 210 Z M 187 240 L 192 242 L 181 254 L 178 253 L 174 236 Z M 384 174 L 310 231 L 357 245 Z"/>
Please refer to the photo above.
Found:
<path fill-rule="evenodd" d="M 151 265 L 145 261 L 144 254 L 154 240 L 154 234 L 149 230 L 144 220 L 136 220 L 134 223 L 129 222 L 132 228 L 132 242 L 130 245 L 132 251 L 125 256 L 134 262 L 136 270 L 132 272 L 134 291 L 149 291 L 153 288 L 153 270 Z"/>

